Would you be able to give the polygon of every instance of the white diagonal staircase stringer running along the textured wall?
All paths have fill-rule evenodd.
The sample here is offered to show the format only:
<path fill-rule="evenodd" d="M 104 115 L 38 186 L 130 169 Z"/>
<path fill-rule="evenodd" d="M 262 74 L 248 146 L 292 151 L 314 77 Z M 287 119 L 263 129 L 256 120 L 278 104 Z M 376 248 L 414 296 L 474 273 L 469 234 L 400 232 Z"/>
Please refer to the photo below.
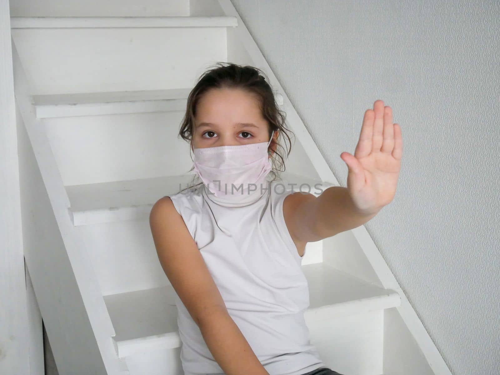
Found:
<path fill-rule="evenodd" d="M 322 181 L 330 182 L 336 186 L 339 186 L 337 179 L 335 178 L 333 172 L 329 168 L 326 160 L 323 158 L 321 153 L 319 152 L 316 144 L 314 143 L 312 137 L 307 131 L 304 123 L 298 116 L 295 108 L 291 104 L 288 99 L 288 95 L 286 95 L 285 91 L 279 84 L 276 76 L 272 72 L 270 66 L 265 60 L 262 52 L 258 48 L 257 44 L 253 40 L 250 32 L 246 28 L 243 20 L 239 16 L 238 12 L 234 8 L 234 5 L 230 0 L 217 0 L 221 9 L 224 12 L 224 15 L 234 16 L 237 18 L 237 26 L 233 28 L 237 37 L 245 47 L 248 52 L 248 55 L 252 59 L 252 63 L 255 67 L 258 67 L 264 70 L 269 78 L 269 81 L 273 88 L 276 88 L 283 98 L 283 110 L 286 112 L 286 120 L 291 130 L 297 134 L 300 139 L 300 143 L 302 144 L 304 151 L 309 157 L 311 163 L 314 165 L 316 172 L 319 175 L 319 178 Z M 401 306 L 397 308 L 401 318 L 406 324 L 409 332 L 415 339 L 418 347 L 422 351 L 427 363 L 430 368 L 434 372 L 435 375 L 451 375 L 450 370 L 448 369 L 446 363 L 444 362 L 442 356 L 439 351 L 435 347 L 432 339 L 429 334 L 425 330 L 423 324 L 418 319 L 415 311 L 409 304 L 408 299 L 404 295 L 404 292 L 401 290 L 399 284 L 397 283 L 394 275 L 390 271 L 389 267 L 385 263 L 382 255 L 376 248 L 373 239 L 370 237 L 364 225 L 355 228 L 352 230 L 354 237 L 359 243 L 360 247 L 363 250 L 367 260 L 369 261 L 371 267 L 373 268 L 376 276 L 380 280 L 381 285 L 385 289 L 392 289 L 397 291 L 401 298 Z"/>

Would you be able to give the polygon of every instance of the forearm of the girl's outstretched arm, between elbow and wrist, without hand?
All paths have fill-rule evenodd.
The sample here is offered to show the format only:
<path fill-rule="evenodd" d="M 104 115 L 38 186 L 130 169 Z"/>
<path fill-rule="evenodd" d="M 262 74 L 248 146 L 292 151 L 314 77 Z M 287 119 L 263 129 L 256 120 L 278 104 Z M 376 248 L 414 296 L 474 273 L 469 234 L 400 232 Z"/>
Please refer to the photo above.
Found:
<path fill-rule="evenodd" d="M 313 231 L 320 238 L 357 228 L 378 213 L 360 212 L 352 202 L 347 188 L 341 186 L 325 189 L 316 198 L 312 211 Z"/>

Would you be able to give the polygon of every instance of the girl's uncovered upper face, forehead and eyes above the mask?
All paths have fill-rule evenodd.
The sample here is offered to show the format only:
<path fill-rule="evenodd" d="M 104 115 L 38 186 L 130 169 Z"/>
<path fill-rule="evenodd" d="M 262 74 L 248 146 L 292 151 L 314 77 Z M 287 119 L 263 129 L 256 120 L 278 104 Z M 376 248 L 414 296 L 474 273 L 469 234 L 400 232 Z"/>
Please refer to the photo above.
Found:
<path fill-rule="evenodd" d="M 210 89 L 198 101 L 193 148 L 267 142 L 268 134 L 254 94 L 232 88 Z"/>

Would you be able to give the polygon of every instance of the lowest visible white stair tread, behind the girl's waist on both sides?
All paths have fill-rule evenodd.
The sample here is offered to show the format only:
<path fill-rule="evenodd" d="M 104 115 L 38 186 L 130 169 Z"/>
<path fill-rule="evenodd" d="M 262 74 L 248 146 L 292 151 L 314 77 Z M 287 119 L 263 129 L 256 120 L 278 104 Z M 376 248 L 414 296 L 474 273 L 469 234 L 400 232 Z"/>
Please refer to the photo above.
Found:
<path fill-rule="evenodd" d="M 325 263 L 302 266 L 309 285 L 307 324 L 400 305 L 397 292 L 347 275 Z M 118 358 L 181 346 L 175 290 L 170 286 L 104 296 Z"/>

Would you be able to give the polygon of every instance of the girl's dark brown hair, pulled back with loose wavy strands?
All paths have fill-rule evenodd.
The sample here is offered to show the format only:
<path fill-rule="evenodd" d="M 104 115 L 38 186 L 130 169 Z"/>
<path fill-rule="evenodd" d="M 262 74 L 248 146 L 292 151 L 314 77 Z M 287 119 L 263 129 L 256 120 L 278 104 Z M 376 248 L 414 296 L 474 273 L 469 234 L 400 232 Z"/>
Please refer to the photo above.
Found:
<path fill-rule="evenodd" d="M 279 130 L 276 151 L 271 156 L 272 169 L 269 172 L 273 176 L 272 180 L 275 180 L 279 177 L 277 172 L 284 172 L 285 170 L 284 154 L 282 151 L 285 151 L 286 157 L 288 157 L 291 151 L 291 140 L 288 132 L 291 134 L 293 134 L 293 132 L 286 128 L 286 113 L 278 108 L 274 93 L 268 83 L 268 78 L 261 69 L 250 65 L 242 66 L 230 62 L 218 61 L 215 64 L 215 67 L 209 68 L 201 74 L 187 97 L 186 111 L 179 130 L 180 137 L 189 143 L 191 142 L 194 131 L 196 105 L 201 96 L 212 88 L 239 88 L 253 93 L 258 97 L 262 116 L 268 123 L 269 137 L 274 130 Z M 281 142 L 279 142 L 279 138 L 281 137 L 284 140 L 285 136 L 289 146 L 286 148 L 287 151 L 283 148 Z M 271 145 L 272 143 L 275 143 L 274 140 L 271 141 Z M 189 171 L 192 171 L 193 169 L 194 166 Z M 199 182 L 198 184 L 201 183 L 202 182 Z M 190 187 L 193 187 L 193 185 Z"/>

